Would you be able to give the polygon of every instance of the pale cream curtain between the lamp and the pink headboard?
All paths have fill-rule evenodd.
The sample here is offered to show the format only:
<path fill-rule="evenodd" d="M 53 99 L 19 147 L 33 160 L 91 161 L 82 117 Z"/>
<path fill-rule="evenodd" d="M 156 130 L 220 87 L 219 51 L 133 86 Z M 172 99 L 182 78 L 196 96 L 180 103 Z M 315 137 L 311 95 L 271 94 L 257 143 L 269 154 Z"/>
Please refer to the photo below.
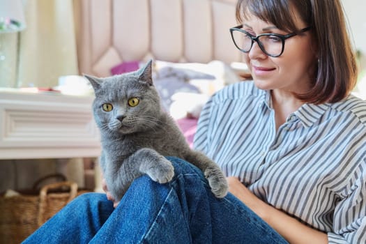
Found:
<path fill-rule="evenodd" d="M 52 87 L 77 75 L 73 0 L 24 0 L 17 86 Z"/>

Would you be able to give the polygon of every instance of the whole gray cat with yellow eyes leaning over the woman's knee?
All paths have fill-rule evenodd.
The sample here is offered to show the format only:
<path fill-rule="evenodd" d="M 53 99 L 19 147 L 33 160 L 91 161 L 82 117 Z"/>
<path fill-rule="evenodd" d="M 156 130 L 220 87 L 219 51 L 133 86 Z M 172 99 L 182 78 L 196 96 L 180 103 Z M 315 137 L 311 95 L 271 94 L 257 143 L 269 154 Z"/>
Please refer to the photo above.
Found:
<path fill-rule="evenodd" d="M 162 110 L 151 63 L 112 77 L 85 75 L 96 93 L 93 114 L 100 128 L 100 165 L 108 190 L 119 201 L 142 174 L 167 183 L 174 176 L 174 168 L 165 156 L 176 156 L 199 167 L 213 194 L 224 197 L 228 187 L 220 167 L 203 153 L 193 151 L 175 121 Z"/>

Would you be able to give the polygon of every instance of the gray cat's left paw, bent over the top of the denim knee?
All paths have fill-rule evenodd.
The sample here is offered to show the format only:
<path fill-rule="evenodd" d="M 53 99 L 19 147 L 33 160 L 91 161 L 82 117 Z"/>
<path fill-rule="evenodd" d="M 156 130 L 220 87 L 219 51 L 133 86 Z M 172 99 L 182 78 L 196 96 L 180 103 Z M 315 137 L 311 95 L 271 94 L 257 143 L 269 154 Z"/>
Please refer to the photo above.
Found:
<path fill-rule="evenodd" d="M 146 174 L 148 174 L 153 181 L 163 184 L 171 181 L 173 178 L 174 167 L 169 160 L 161 158 L 160 162 L 149 168 Z"/>

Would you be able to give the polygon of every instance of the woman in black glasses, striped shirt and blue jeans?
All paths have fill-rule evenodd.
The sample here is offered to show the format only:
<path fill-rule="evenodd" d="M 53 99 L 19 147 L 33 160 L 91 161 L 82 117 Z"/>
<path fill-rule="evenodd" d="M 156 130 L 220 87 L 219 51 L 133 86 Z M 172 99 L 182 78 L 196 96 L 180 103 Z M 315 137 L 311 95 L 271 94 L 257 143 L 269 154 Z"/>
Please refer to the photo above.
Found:
<path fill-rule="evenodd" d="M 171 183 L 138 178 L 115 210 L 82 195 L 26 243 L 366 243 L 366 102 L 350 96 L 340 1 L 241 0 L 237 17 L 253 82 L 216 93 L 195 138 L 231 194 L 216 199 L 201 171 L 169 158 Z"/>

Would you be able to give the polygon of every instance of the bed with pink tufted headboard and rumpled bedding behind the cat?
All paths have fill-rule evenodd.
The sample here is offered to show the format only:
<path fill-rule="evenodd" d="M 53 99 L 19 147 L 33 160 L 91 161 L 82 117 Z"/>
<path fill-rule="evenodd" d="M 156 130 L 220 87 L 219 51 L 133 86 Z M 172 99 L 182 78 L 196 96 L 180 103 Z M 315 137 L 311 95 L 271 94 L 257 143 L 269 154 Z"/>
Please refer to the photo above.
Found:
<path fill-rule="evenodd" d="M 192 145 L 204 102 L 246 73 L 229 28 L 236 0 L 79 0 L 80 73 L 106 77 L 154 61 L 165 109 Z"/>

